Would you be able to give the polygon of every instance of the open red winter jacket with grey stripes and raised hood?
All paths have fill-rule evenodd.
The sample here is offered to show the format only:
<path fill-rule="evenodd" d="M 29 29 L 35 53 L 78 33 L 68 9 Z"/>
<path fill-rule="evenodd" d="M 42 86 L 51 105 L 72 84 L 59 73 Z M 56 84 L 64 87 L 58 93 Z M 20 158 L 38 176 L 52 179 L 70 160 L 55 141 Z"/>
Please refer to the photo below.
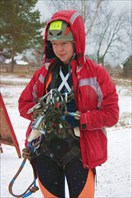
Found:
<path fill-rule="evenodd" d="M 27 111 L 45 94 L 44 80 L 50 65 L 47 53 L 47 30 L 54 20 L 70 24 L 76 49 L 76 60 L 72 60 L 72 78 L 75 100 L 80 117 L 80 146 L 83 166 L 94 168 L 107 160 L 106 127 L 118 121 L 119 107 L 116 88 L 104 67 L 85 58 L 85 31 L 81 16 L 76 10 L 59 11 L 48 22 L 45 31 L 45 64 L 37 70 L 19 98 L 20 115 L 32 120 Z M 31 132 L 28 127 L 26 137 Z"/>

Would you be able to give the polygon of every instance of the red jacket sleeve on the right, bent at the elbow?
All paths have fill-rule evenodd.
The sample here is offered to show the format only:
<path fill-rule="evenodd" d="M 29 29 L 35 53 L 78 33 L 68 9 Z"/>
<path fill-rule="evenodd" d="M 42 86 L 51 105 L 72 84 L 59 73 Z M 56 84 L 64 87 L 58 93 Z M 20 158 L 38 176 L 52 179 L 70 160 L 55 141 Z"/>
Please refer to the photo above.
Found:
<path fill-rule="evenodd" d="M 115 84 L 103 67 L 97 70 L 97 80 L 102 91 L 100 108 L 81 113 L 80 128 L 96 130 L 112 127 L 118 122 L 119 106 Z"/>

